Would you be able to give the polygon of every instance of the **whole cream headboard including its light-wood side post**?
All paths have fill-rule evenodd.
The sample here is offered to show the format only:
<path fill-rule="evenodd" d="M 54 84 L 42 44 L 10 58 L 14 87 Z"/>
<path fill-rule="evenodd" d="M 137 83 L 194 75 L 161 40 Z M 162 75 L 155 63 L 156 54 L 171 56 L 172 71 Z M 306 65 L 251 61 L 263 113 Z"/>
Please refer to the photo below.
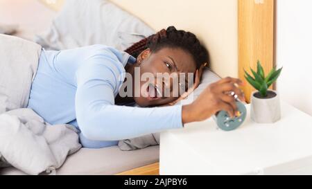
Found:
<path fill-rule="evenodd" d="M 60 10 L 65 0 L 39 0 Z M 211 70 L 220 77 L 243 77 L 261 60 L 273 67 L 274 0 L 110 0 L 155 30 L 175 26 L 195 33 L 209 51 Z M 243 88 L 248 99 L 254 89 Z"/>

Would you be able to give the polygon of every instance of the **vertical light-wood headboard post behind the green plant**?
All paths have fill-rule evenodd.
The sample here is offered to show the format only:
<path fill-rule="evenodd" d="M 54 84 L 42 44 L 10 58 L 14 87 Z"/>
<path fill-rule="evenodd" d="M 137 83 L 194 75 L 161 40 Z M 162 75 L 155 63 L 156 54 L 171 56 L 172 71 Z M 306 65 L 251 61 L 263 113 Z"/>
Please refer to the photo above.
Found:
<path fill-rule="evenodd" d="M 257 60 L 265 73 L 273 67 L 274 5 L 274 0 L 239 0 L 239 78 L 246 83 L 243 69 L 257 69 Z M 250 84 L 242 89 L 250 102 L 255 89 Z"/>

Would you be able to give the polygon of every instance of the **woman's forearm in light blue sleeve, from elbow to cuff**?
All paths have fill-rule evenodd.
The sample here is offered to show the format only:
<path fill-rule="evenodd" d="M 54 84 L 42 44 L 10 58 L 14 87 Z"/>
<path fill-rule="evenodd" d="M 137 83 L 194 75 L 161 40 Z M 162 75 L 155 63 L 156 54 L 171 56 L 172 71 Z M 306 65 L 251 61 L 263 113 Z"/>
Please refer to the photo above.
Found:
<path fill-rule="evenodd" d="M 98 104 L 78 111 L 78 126 L 90 140 L 119 141 L 183 127 L 182 107 L 121 107 Z"/>

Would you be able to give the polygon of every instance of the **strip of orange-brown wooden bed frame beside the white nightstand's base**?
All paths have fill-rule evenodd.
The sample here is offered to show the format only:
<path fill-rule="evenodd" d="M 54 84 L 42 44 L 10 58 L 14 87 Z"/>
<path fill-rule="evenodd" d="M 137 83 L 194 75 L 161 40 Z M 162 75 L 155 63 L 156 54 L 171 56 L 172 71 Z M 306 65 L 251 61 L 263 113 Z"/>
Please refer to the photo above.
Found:
<path fill-rule="evenodd" d="M 159 163 L 153 163 L 141 168 L 121 172 L 116 175 L 159 175 Z"/>

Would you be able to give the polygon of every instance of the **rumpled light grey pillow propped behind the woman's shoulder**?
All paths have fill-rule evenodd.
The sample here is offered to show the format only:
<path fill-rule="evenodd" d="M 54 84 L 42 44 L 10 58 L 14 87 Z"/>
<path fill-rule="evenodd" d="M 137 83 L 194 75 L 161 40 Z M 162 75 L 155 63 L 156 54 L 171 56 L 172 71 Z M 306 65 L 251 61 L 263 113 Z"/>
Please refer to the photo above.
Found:
<path fill-rule="evenodd" d="M 125 50 L 155 31 L 106 0 L 67 0 L 51 28 L 35 37 L 46 49 L 105 44 Z"/>

